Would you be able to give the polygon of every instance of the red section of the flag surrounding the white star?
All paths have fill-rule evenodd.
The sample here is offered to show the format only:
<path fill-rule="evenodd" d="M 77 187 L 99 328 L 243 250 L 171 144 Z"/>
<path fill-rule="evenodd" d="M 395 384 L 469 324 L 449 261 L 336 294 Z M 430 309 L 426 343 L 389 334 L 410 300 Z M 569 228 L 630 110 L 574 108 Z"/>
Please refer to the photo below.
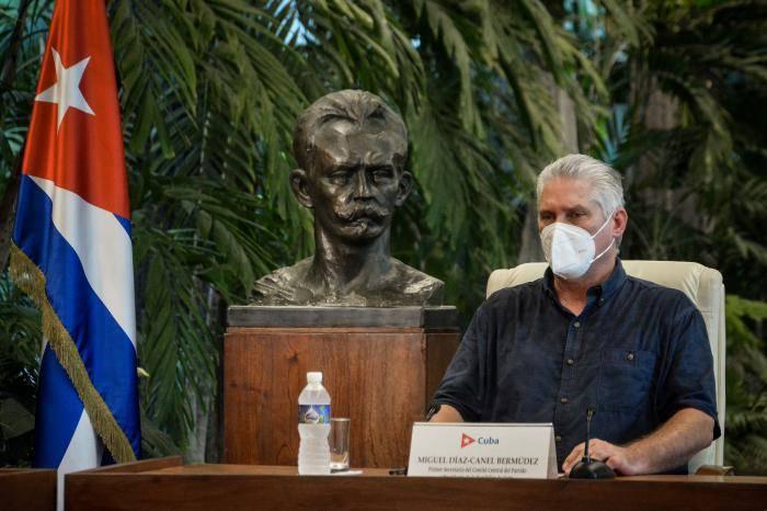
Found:
<path fill-rule="evenodd" d="M 59 124 L 61 101 L 35 101 L 24 173 L 51 180 L 95 206 L 129 218 L 117 83 L 104 0 L 57 0 L 37 94 L 62 83 L 53 49 L 60 55 L 64 68 L 72 68 L 90 57 L 79 90 L 93 115 L 70 106 Z"/>

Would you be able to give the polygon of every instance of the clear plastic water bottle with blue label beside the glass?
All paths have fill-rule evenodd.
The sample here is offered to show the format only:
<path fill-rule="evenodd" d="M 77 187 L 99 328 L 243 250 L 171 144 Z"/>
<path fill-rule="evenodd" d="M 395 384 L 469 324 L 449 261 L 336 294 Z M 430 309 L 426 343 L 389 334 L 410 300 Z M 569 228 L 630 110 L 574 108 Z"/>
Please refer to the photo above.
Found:
<path fill-rule="evenodd" d="M 307 373 L 307 386 L 298 396 L 298 474 L 330 474 L 330 394 L 322 373 Z"/>

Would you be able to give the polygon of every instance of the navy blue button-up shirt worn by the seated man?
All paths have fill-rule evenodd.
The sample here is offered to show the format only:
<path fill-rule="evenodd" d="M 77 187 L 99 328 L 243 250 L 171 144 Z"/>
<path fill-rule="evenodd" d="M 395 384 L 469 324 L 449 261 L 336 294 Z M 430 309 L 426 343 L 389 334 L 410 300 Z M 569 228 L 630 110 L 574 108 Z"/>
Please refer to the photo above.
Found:
<path fill-rule="evenodd" d="M 592 438 L 625 444 L 684 408 L 714 419 L 713 363 L 703 318 L 684 293 L 628 276 L 620 260 L 574 316 L 551 269 L 494 293 L 474 314 L 434 398 L 468 422 L 551 422 L 557 461 Z M 678 467 L 672 473 L 686 473 Z"/>

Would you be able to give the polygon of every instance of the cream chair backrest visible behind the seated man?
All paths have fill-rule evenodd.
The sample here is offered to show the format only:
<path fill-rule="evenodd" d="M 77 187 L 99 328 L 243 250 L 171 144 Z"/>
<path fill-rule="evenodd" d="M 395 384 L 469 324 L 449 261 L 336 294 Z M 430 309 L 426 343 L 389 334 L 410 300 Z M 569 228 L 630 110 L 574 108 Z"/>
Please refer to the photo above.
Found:
<path fill-rule="evenodd" d="M 688 463 L 690 473 L 700 465 L 722 465 L 724 462 L 724 285 L 717 270 L 695 262 L 679 261 L 622 261 L 626 273 L 684 292 L 698 307 L 706 321 L 706 329 L 713 355 L 717 379 L 717 408 L 722 436 L 708 448 L 699 452 Z M 511 287 L 543 276 L 547 264 L 533 262 L 508 270 L 495 270 L 488 279 L 486 296 L 503 287 Z"/>

